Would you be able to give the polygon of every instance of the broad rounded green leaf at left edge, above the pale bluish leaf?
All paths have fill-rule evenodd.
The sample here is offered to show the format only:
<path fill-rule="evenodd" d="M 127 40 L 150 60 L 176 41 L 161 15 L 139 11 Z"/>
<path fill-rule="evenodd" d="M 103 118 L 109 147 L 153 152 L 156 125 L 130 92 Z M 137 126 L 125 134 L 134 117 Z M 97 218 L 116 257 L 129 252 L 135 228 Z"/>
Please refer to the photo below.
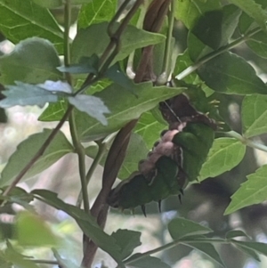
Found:
<path fill-rule="evenodd" d="M 59 56 L 49 41 L 39 37 L 28 38 L 16 45 L 12 53 L 0 58 L 0 82 L 37 84 L 45 80 L 59 80 L 62 75 L 56 68 L 60 65 Z"/>

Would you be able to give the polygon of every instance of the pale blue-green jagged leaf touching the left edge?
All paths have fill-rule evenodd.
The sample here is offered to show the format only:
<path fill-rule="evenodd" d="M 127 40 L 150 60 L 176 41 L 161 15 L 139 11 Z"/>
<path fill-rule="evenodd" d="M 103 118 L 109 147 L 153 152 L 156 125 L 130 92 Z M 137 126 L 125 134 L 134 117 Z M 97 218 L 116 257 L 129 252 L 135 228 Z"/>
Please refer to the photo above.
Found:
<path fill-rule="evenodd" d="M 38 105 L 44 107 L 46 102 L 57 102 L 58 96 L 38 85 L 15 82 L 16 85 L 7 85 L 3 91 L 6 98 L 0 101 L 0 107 L 9 108 L 15 105 Z"/>

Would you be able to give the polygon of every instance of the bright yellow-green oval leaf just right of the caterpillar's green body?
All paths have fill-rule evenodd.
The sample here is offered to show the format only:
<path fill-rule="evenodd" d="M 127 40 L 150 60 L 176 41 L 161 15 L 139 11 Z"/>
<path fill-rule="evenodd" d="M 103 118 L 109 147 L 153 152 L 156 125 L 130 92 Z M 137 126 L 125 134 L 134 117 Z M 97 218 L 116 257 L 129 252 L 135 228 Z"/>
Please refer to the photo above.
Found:
<path fill-rule="evenodd" d="M 214 178 L 238 166 L 244 158 L 245 152 L 246 145 L 236 139 L 215 139 L 213 147 L 208 152 L 206 162 L 201 168 L 198 180 L 203 181 L 208 177 Z"/>

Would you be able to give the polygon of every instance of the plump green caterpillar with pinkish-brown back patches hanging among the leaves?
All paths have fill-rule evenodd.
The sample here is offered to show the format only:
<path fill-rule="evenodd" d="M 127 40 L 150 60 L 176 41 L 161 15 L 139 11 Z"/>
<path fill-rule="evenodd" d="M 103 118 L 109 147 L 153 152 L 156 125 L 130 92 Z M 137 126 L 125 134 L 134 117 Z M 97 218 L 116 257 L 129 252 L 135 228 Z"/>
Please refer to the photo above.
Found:
<path fill-rule="evenodd" d="M 179 103 L 187 110 L 177 110 Z M 146 215 L 145 204 L 157 201 L 160 210 L 162 199 L 170 195 L 181 199 L 187 183 L 198 178 L 214 142 L 216 124 L 190 106 L 184 95 L 161 103 L 160 110 L 169 129 L 161 134 L 148 157 L 140 161 L 138 171 L 109 192 L 110 207 L 134 209 L 141 206 Z"/>

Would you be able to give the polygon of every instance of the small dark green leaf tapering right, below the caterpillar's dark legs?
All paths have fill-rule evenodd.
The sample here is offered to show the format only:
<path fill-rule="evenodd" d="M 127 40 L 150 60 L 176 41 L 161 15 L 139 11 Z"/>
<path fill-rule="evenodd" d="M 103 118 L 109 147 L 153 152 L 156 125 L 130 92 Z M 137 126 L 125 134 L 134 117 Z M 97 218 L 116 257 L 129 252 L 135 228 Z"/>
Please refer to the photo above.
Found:
<path fill-rule="evenodd" d="M 184 218 L 176 218 L 168 223 L 168 231 L 173 240 L 180 240 L 184 237 L 212 232 L 210 228 Z"/>

